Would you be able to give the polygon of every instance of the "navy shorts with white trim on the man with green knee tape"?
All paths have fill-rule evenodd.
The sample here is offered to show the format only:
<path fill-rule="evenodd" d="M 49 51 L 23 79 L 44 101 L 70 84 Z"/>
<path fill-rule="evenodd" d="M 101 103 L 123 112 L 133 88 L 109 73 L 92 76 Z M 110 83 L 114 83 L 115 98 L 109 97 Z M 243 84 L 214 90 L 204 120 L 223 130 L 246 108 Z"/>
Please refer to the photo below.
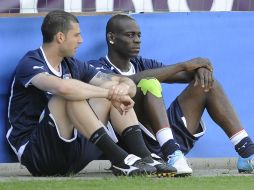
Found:
<path fill-rule="evenodd" d="M 177 99 L 175 99 L 170 105 L 170 107 L 167 109 L 167 114 L 174 139 L 179 144 L 180 150 L 184 154 L 187 154 L 193 148 L 195 142 L 203 135 L 204 131 L 198 134 L 197 137 L 189 133 L 184 123 L 184 116 Z M 202 121 L 200 125 L 201 128 L 205 130 Z M 143 136 L 148 149 L 151 152 L 163 157 L 158 141 L 153 140 L 145 133 L 143 133 Z"/>

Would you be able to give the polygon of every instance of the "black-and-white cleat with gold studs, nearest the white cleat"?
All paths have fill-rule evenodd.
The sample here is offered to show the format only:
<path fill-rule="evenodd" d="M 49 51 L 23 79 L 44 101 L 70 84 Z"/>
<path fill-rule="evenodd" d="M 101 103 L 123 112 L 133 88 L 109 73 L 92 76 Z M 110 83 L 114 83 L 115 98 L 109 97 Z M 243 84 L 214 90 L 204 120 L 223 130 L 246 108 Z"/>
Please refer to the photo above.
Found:
<path fill-rule="evenodd" d="M 176 174 L 174 167 L 168 166 L 161 157 L 154 153 L 151 156 L 143 158 L 142 161 L 150 166 L 154 166 L 157 169 L 156 175 L 158 177 L 172 177 Z"/>

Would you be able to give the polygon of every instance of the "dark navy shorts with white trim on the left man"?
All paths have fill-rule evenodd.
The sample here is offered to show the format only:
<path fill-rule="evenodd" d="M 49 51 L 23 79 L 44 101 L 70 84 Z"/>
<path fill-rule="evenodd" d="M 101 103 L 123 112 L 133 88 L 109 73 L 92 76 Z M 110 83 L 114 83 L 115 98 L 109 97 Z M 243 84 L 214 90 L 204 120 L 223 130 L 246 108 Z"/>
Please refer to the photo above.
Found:
<path fill-rule="evenodd" d="M 77 173 L 90 161 L 100 159 L 103 153 L 76 129 L 71 139 L 61 137 L 47 107 L 25 147 L 21 164 L 34 176 L 62 176 Z"/>

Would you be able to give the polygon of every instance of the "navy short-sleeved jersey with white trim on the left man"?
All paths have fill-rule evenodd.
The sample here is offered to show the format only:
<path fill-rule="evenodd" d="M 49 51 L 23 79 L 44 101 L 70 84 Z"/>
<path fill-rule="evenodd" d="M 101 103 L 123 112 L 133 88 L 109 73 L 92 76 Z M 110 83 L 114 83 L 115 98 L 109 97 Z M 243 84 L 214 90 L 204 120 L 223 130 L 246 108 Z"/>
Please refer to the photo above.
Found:
<path fill-rule="evenodd" d="M 74 78 L 88 83 L 98 72 L 74 58 L 64 58 L 60 67 L 62 72 L 54 71 L 47 63 L 41 48 L 29 51 L 17 65 L 8 107 L 11 128 L 7 133 L 8 141 L 15 151 L 18 152 L 19 148 L 29 141 L 41 113 L 52 97 L 50 92 L 42 91 L 31 84 L 35 75 L 47 73 L 63 79 Z"/>

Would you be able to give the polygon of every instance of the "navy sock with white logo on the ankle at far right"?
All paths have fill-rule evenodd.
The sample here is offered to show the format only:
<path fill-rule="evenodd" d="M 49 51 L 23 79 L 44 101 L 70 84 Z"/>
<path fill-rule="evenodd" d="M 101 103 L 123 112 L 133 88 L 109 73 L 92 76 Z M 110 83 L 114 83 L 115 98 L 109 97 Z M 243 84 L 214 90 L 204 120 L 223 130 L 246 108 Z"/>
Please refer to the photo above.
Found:
<path fill-rule="evenodd" d="M 245 137 L 235 145 L 235 150 L 242 158 L 248 158 L 254 154 L 254 144 L 250 137 Z"/>

